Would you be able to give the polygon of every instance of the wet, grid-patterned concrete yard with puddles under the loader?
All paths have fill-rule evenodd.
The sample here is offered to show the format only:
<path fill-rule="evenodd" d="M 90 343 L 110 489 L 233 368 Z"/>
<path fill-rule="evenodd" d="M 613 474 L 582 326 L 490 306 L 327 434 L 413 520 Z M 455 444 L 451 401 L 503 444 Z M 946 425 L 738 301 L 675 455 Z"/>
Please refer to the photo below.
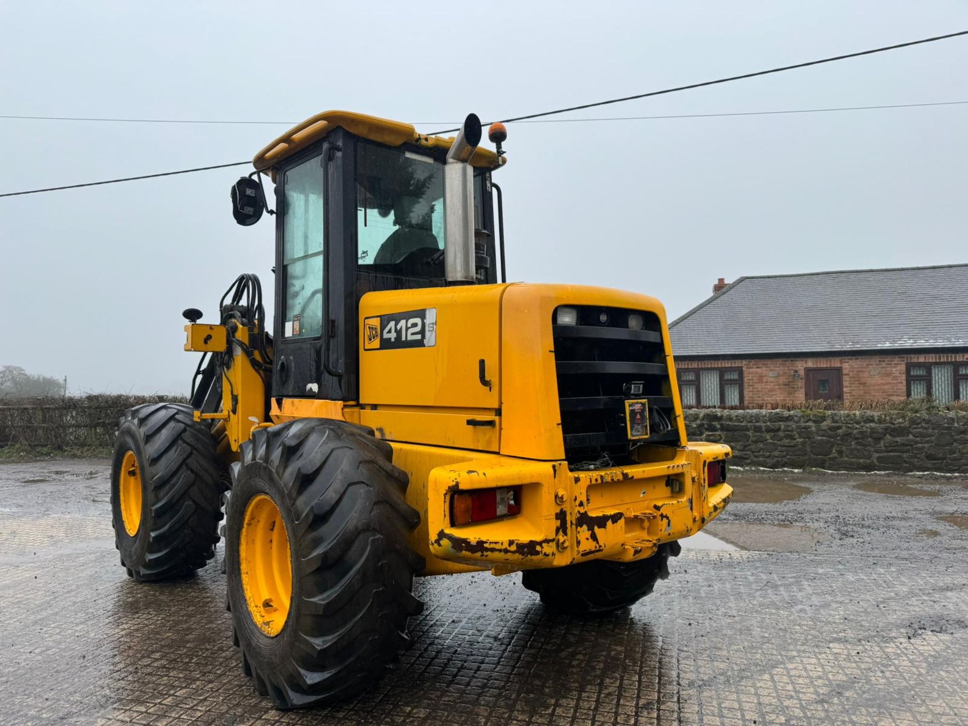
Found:
<path fill-rule="evenodd" d="M 0 465 L 2 724 L 968 724 L 966 481 L 734 470 L 709 528 L 731 544 L 697 537 L 632 609 L 421 580 L 370 693 L 284 713 L 242 674 L 217 564 L 125 576 L 107 471 Z"/>

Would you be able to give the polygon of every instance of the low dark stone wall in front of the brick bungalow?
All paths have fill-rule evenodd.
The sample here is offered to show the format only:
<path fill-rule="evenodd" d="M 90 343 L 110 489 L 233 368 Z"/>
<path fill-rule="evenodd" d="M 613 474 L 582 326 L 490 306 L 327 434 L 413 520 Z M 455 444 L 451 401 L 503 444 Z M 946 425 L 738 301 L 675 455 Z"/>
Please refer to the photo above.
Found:
<path fill-rule="evenodd" d="M 692 408 L 685 428 L 728 443 L 740 466 L 968 473 L 966 411 Z"/>

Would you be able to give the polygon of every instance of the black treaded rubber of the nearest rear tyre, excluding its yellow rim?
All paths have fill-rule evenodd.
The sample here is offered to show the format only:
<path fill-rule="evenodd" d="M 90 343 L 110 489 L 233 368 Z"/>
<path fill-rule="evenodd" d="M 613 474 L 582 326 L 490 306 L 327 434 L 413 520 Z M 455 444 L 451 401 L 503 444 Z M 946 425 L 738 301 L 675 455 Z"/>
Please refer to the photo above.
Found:
<path fill-rule="evenodd" d="M 408 476 L 393 466 L 392 453 L 371 431 L 327 419 L 259 429 L 240 449 L 235 475 L 256 464 L 272 469 L 293 520 L 301 597 L 287 620 L 298 629 L 285 662 L 260 665 L 257 649 L 238 633 L 246 674 L 277 709 L 358 693 L 408 646 L 408 618 L 423 610 L 412 580 L 424 561 L 408 547 L 420 515 L 405 500 Z M 243 510 L 240 502 L 232 516 Z M 229 525 L 238 526 L 234 519 Z M 237 567 L 235 557 L 229 567 Z M 232 616 L 250 618 L 244 601 L 232 603 Z M 236 620 L 237 631 L 240 625 Z"/>

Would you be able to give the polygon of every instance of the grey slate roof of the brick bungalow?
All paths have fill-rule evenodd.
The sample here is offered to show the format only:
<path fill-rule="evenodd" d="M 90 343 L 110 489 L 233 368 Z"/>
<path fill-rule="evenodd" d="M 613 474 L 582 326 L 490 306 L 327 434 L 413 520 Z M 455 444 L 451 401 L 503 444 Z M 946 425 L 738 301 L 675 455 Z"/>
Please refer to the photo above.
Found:
<path fill-rule="evenodd" d="M 968 264 L 741 277 L 669 329 L 680 356 L 968 347 Z"/>

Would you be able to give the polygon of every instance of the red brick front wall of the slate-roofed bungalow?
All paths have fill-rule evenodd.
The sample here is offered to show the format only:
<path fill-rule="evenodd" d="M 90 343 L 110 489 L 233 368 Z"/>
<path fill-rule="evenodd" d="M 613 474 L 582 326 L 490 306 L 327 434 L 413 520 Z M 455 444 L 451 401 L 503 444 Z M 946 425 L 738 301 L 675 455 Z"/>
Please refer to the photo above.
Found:
<path fill-rule="evenodd" d="M 968 351 L 923 355 L 859 354 L 826 357 L 677 358 L 677 368 L 742 368 L 745 405 L 796 403 L 804 400 L 805 368 L 840 368 L 844 401 L 872 401 L 907 397 L 907 363 L 968 361 Z M 794 377 L 794 372 L 799 378 Z"/>

